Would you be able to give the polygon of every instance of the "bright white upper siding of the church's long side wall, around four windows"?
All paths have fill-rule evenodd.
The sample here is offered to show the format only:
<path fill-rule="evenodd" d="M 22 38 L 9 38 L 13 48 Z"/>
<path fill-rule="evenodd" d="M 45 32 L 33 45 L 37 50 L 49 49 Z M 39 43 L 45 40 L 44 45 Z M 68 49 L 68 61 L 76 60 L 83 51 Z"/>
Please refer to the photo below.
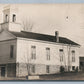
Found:
<path fill-rule="evenodd" d="M 31 46 L 36 46 L 36 59 L 31 59 Z M 50 60 L 46 59 L 46 47 L 50 48 Z M 60 62 L 59 49 L 64 50 L 64 61 Z M 75 50 L 76 61 L 72 62 L 71 51 Z M 68 65 L 68 52 L 69 45 L 57 45 L 54 43 L 30 40 L 30 39 L 18 39 L 17 40 L 17 60 L 18 63 L 35 63 L 35 64 L 45 64 L 45 65 Z M 27 59 L 29 61 L 27 61 Z M 79 66 L 79 48 L 70 47 L 70 65 Z"/>

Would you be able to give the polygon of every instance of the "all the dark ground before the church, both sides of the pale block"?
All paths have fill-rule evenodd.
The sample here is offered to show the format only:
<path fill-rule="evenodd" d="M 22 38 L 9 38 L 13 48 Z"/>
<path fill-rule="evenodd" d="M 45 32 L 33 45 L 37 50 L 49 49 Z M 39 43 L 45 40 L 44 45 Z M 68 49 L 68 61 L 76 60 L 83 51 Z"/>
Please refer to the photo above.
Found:
<path fill-rule="evenodd" d="M 4 77 L 1 77 L 0 80 L 26 80 L 26 77 L 24 78 L 14 78 L 14 77 L 7 77 L 7 78 L 4 78 Z M 41 81 L 46 81 L 46 80 L 64 80 L 64 81 L 67 81 L 67 80 L 84 80 L 84 72 L 81 72 L 81 73 L 62 73 L 62 74 L 52 74 L 52 75 L 42 75 L 40 76 L 40 79 Z M 38 81 L 38 80 L 37 80 Z"/>

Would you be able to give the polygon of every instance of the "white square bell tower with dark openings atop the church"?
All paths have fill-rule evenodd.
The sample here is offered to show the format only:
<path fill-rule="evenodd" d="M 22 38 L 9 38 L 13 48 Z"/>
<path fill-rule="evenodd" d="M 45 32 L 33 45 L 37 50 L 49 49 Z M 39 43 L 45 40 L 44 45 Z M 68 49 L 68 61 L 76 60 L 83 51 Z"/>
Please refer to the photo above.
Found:
<path fill-rule="evenodd" d="M 21 24 L 18 23 L 18 7 L 8 5 L 3 8 L 3 23 L 1 23 L 1 30 L 21 31 Z"/>

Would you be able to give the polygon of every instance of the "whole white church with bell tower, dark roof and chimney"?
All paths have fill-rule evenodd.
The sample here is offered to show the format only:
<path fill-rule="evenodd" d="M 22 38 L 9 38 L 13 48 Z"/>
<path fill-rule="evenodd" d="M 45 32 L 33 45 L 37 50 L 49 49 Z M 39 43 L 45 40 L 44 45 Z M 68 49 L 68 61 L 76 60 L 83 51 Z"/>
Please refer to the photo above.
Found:
<path fill-rule="evenodd" d="M 21 31 L 17 11 L 5 7 L 0 24 L 0 76 L 21 77 L 79 69 L 80 45 L 65 37 Z"/>

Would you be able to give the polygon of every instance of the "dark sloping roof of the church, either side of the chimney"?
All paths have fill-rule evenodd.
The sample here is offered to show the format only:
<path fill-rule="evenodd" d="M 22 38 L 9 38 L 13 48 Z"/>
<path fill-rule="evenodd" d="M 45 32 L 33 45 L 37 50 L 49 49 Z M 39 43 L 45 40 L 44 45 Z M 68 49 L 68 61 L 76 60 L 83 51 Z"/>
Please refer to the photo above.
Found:
<path fill-rule="evenodd" d="M 53 35 L 46 35 L 46 34 L 39 34 L 39 33 L 33 33 L 33 32 L 11 32 L 16 37 L 22 37 L 22 38 L 29 38 L 29 39 L 36 39 L 36 40 L 43 40 L 43 41 L 49 41 L 49 42 L 56 42 L 55 36 Z M 67 38 L 59 37 L 59 43 L 64 44 L 71 44 L 71 45 L 79 45 Z"/>

